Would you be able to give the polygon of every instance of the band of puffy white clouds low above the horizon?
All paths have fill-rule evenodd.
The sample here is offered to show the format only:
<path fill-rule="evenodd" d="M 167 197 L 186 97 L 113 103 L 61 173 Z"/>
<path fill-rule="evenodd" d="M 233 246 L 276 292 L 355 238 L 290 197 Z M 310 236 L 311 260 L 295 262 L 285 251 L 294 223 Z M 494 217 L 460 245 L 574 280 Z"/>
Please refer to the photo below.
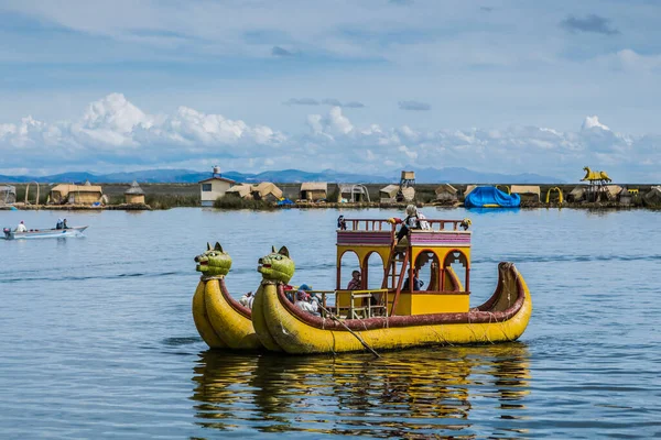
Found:
<path fill-rule="evenodd" d="M 616 182 L 661 180 L 661 139 L 617 133 L 596 116 L 581 130 L 422 130 L 355 125 L 339 107 L 307 117 L 307 132 L 283 132 L 180 107 L 148 114 L 120 94 L 88 106 L 76 121 L 32 117 L 0 123 L 0 174 L 31 166 L 91 172 L 186 166 L 242 172 L 288 167 L 389 174 L 391 168 L 464 166 L 508 174 L 538 173 L 575 180 L 581 169 L 608 168 Z"/>

